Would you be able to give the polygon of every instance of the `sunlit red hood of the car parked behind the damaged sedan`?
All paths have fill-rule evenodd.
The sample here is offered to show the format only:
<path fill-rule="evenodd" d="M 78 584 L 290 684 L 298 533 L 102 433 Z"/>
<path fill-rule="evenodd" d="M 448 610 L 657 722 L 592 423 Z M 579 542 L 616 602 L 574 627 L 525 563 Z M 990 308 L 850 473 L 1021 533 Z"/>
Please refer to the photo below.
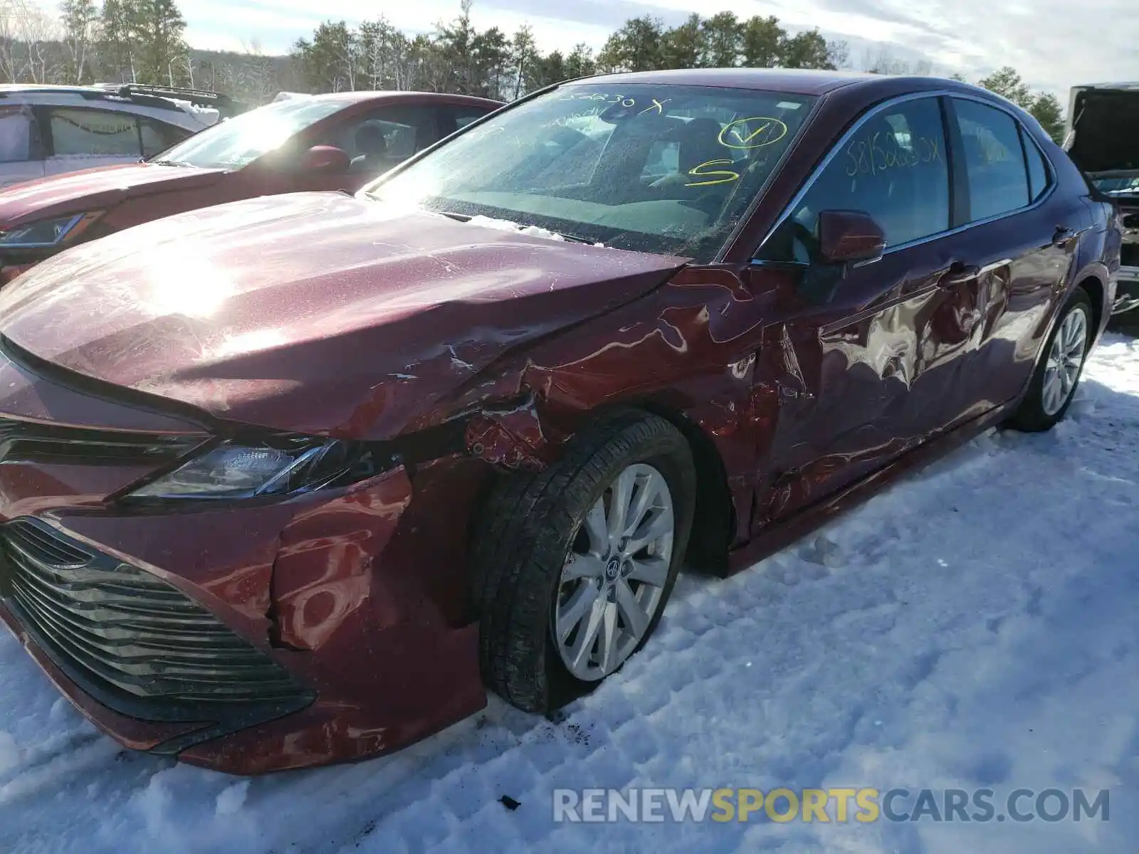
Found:
<path fill-rule="evenodd" d="M 215 182 L 224 170 L 126 163 L 19 183 L 0 194 L 0 228 L 113 207 L 125 198 Z"/>

